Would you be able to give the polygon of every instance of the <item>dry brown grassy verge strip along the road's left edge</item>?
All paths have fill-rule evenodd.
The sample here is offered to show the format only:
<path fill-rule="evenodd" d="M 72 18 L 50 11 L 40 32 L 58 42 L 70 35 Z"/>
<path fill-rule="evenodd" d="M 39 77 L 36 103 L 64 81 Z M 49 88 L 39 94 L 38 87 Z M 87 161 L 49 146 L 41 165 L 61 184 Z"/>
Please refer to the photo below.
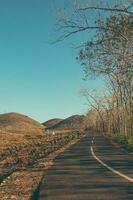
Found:
<path fill-rule="evenodd" d="M 51 167 L 54 159 L 64 152 L 71 145 L 75 144 L 78 139 L 71 140 L 64 147 L 54 151 L 48 157 L 41 159 L 36 165 L 30 169 L 14 172 L 11 176 L 5 179 L 0 185 L 1 200 L 31 200 L 34 199 L 36 189 L 42 181 L 45 170 Z"/>

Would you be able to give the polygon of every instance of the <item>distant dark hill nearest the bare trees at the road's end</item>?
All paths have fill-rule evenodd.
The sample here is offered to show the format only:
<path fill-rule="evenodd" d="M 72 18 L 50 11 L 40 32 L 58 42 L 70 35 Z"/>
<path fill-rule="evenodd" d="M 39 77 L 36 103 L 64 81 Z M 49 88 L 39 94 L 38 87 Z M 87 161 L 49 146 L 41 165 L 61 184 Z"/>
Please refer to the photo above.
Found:
<path fill-rule="evenodd" d="M 84 115 L 73 115 L 50 127 L 50 129 L 54 130 L 79 129 L 83 127 L 84 118 L 85 118 Z"/>

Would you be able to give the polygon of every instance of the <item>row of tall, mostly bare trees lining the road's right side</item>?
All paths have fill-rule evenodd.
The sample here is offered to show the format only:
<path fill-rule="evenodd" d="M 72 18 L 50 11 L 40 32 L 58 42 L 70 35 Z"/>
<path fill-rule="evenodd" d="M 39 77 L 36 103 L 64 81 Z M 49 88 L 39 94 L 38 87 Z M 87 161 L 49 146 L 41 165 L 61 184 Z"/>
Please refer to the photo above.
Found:
<path fill-rule="evenodd" d="M 77 60 L 85 79 L 100 78 L 105 86 L 100 93 L 83 91 L 87 126 L 133 150 L 133 1 L 77 0 L 67 11 L 57 21 L 57 42 L 86 31 Z"/>

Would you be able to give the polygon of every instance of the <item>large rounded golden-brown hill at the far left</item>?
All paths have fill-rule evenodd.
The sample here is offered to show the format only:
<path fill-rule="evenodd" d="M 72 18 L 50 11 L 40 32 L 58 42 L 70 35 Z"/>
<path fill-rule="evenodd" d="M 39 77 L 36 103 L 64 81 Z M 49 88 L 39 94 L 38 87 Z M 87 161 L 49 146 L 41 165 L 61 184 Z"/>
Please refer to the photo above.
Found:
<path fill-rule="evenodd" d="M 35 133 L 42 132 L 44 126 L 28 116 L 18 113 L 6 113 L 0 115 L 0 131 L 10 133 Z"/>

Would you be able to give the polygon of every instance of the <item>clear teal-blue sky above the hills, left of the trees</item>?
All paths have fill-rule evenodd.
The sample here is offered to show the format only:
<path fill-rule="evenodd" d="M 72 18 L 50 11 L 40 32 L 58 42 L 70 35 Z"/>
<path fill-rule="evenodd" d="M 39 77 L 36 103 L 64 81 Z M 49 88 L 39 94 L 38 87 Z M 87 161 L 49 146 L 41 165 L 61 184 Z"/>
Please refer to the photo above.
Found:
<path fill-rule="evenodd" d="M 86 111 L 76 51 L 67 42 L 49 44 L 53 2 L 58 7 L 63 1 L 0 1 L 0 113 L 19 112 L 43 122 Z"/>

